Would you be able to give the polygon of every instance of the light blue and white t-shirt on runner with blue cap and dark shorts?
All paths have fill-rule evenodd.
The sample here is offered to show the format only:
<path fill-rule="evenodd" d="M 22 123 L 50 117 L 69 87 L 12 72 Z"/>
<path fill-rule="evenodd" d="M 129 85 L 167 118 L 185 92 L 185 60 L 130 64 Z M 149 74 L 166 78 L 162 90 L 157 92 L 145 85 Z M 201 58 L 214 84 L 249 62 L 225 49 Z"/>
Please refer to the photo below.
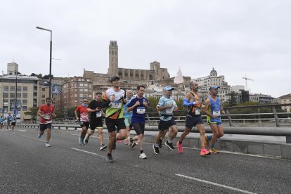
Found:
<path fill-rule="evenodd" d="M 174 101 L 174 98 L 172 98 L 172 96 L 170 98 L 166 98 L 166 97 L 162 96 L 160 98 L 159 103 L 157 103 L 158 107 L 169 106 L 172 103 L 173 103 L 173 107 L 169 107 L 169 108 L 167 108 L 165 110 L 161 110 L 160 111 L 160 119 L 162 121 L 169 121 L 170 119 L 172 119 L 174 117 L 173 111 L 177 107 L 177 104 Z"/>

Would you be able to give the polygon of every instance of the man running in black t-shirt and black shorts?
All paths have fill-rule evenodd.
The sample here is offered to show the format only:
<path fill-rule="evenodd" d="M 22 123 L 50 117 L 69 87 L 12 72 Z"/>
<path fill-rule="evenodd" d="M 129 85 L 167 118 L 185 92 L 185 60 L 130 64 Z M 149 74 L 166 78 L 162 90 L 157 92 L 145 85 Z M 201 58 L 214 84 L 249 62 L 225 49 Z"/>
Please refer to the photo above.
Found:
<path fill-rule="evenodd" d="M 105 150 L 107 145 L 103 141 L 103 120 L 102 117 L 105 115 L 102 108 L 102 92 L 98 91 L 95 93 L 95 99 L 89 103 L 90 112 L 90 131 L 86 134 L 85 143 L 88 143 L 89 137 L 94 134 L 95 129 L 98 129 L 99 139 L 99 150 Z"/>

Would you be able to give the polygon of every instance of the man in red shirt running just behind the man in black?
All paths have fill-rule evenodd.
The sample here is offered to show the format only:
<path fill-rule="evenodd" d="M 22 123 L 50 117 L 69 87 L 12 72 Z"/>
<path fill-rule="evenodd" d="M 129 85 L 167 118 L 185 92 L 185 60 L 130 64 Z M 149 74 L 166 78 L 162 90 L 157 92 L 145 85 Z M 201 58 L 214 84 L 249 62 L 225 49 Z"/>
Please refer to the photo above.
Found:
<path fill-rule="evenodd" d="M 79 121 L 80 126 L 82 127 L 81 135 L 79 137 L 79 144 L 85 145 L 84 138 L 86 136 L 87 130 L 89 128 L 89 112 L 88 112 L 88 98 L 83 98 L 82 105 L 79 105 L 75 110 L 76 119 Z M 78 117 L 78 112 L 80 117 Z"/>

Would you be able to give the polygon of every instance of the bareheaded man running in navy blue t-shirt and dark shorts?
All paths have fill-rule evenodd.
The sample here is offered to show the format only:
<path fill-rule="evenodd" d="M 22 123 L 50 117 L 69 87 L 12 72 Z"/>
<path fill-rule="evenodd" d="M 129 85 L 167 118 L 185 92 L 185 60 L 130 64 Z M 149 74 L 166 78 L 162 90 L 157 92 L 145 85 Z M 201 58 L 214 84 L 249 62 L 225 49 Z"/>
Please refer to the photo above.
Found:
<path fill-rule="evenodd" d="M 136 131 L 136 136 L 130 139 L 131 142 L 136 141 L 138 143 L 141 154 L 139 158 L 146 159 L 145 153 L 143 153 L 143 134 L 145 133 L 145 109 L 148 108 L 148 98 L 143 97 L 145 93 L 145 86 L 137 86 L 137 95 L 135 98 L 131 98 L 131 101 L 127 105 L 127 111 L 133 112 L 131 117 L 131 124 Z"/>

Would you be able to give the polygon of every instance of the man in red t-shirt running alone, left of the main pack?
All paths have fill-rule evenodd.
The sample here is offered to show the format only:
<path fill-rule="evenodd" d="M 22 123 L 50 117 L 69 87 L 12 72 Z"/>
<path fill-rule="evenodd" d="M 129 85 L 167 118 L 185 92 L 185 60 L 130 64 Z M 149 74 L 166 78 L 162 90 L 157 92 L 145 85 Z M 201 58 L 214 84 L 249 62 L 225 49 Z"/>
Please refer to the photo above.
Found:
<path fill-rule="evenodd" d="M 46 130 L 46 147 L 51 147 L 48 143 L 51 138 L 51 122 L 55 115 L 55 108 L 51 105 L 51 98 L 46 98 L 46 104 L 41 105 L 37 115 L 40 117 L 40 124 L 39 124 L 39 135 L 38 138 L 44 134 L 44 130 Z"/>

